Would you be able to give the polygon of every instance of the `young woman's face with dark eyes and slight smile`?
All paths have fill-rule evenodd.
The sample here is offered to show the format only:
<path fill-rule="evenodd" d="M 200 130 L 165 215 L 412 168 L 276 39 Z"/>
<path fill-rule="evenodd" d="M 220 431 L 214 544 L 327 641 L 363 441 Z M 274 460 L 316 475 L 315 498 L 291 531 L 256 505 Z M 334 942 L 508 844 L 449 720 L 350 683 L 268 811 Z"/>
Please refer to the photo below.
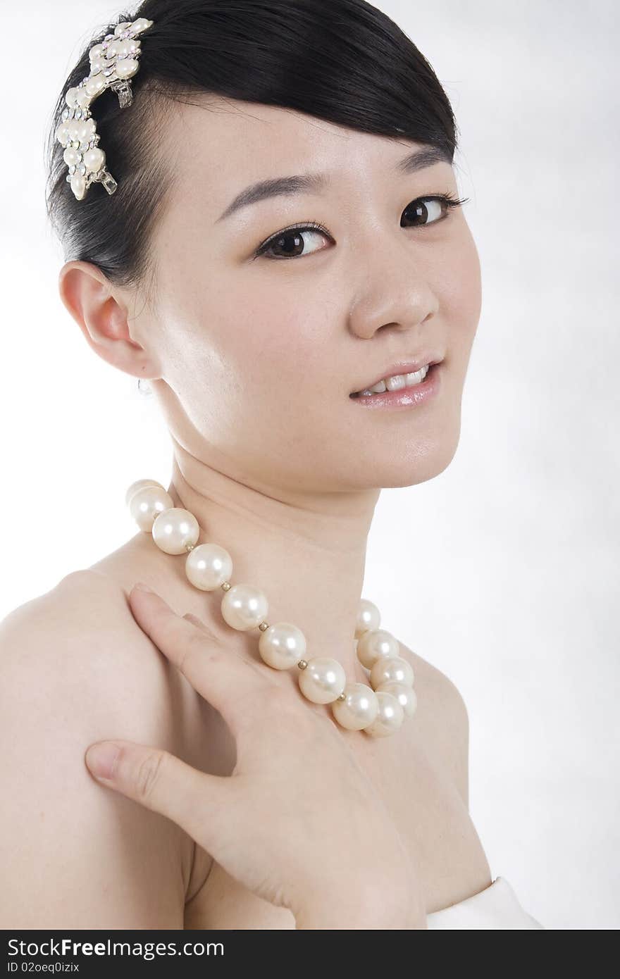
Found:
<path fill-rule="evenodd" d="M 481 307 L 463 211 L 426 200 L 458 197 L 452 166 L 406 174 L 410 142 L 250 103 L 178 107 L 163 139 L 176 183 L 154 236 L 155 318 L 136 321 L 135 339 L 166 382 L 175 437 L 266 487 L 403 487 L 442 472 Z M 310 173 L 323 185 L 222 216 L 249 185 Z M 284 234 L 311 222 L 324 230 Z M 420 354 L 443 358 L 424 403 L 351 397 Z"/>

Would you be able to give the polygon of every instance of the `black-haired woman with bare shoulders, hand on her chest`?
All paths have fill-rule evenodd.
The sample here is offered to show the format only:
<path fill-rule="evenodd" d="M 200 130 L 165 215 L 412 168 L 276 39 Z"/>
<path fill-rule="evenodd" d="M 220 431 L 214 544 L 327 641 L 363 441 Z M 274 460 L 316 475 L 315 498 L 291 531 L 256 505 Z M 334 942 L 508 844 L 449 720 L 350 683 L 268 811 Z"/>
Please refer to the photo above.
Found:
<path fill-rule="evenodd" d="M 148 380 L 167 492 L 201 541 L 264 587 L 270 623 L 367 684 L 374 507 L 452 460 L 480 315 L 452 109 L 362 0 L 147 0 L 134 18 L 152 26 L 133 103 L 93 108 L 113 193 L 79 199 L 56 138 L 88 50 L 57 104 L 62 301 Z M 3 926 L 540 927 L 467 812 L 452 681 L 400 643 L 414 716 L 389 737 L 337 726 L 153 536 L 3 624 Z M 96 780 L 84 751 L 110 739 Z"/>

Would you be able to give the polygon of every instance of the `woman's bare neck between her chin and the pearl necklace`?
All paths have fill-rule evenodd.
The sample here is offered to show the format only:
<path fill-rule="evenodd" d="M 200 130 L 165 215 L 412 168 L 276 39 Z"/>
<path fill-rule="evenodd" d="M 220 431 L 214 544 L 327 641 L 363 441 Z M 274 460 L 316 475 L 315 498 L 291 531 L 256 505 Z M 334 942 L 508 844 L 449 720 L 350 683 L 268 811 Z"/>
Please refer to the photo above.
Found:
<path fill-rule="evenodd" d="M 366 538 L 380 490 L 304 494 L 248 486 L 192 455 L 174 437 L 172 443 L 167 491 L 175 506 L 196 517 L 199 543 L 225 547 L 232 583 L 261 588 L 269 603 L 267 622 L 302 629 L 308 657 L 333 656 L 348 679 L 367 681 L 354 635 Z M 257 642 L 258 636 L 257 631 Z"/>

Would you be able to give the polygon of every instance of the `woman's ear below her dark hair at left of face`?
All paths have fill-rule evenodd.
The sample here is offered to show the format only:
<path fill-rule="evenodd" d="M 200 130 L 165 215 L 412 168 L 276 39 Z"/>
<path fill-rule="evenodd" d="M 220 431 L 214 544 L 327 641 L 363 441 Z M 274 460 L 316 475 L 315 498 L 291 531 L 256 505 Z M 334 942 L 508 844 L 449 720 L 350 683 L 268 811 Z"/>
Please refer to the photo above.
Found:
<path fill-rule="evenodd" d="M 58 289 L 89 347 L 113 367 L 144 380 L 161 378 L 159 361 L 131 338 L 130 310 L 119 289 L 96 265 L 69 261 L 63 265 Z M 132 321 L 135 324 L 135 320 Z"/>

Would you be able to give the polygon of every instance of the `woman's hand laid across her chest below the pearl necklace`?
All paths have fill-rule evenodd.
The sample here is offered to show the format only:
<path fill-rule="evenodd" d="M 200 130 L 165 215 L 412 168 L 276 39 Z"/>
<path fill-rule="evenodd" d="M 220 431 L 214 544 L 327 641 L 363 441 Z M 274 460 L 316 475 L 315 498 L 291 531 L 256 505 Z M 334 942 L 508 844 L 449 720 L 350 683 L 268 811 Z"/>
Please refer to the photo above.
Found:
<path fill-rule="evenodd" d="M 193 616 L 133 588 L 133 616 L 235 738 L 221 777 L 156 747 L 98 742 L 100 782 L 184 829 L 223 869 L 298 928 L 425 928 L 414 868 L 337 724 Z M 105 747 L 103 747 L 105 746 Z"/>

